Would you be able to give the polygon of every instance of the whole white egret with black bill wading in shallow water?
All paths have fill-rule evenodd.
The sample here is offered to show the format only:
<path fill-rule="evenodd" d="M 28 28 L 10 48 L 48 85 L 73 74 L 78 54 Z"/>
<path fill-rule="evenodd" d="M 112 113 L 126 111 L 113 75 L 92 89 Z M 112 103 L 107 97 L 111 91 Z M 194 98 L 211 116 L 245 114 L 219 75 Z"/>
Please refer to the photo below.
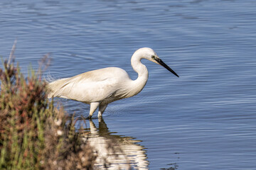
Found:
<path fill-rule="evenodd" d="M 48 84 L 48 98 L 68 98 L 90 104 L 88 118 L 92 117 L 97 108 L 99 108 L 98 117 L 101 117 L 108 103 L 135 96 L 142 91 L 149 78 L 149 72 L 142 64 L 142 59 L 160 64 L 178 77 L 178 74 L 167 66 L 154 50 L 144 47 L 134 52 L 131 58 L 132 68 L 138 74 L 136 80 L 130 79 L 127 72 L 118 67 L 96 69 L 51 82 Z"/>

